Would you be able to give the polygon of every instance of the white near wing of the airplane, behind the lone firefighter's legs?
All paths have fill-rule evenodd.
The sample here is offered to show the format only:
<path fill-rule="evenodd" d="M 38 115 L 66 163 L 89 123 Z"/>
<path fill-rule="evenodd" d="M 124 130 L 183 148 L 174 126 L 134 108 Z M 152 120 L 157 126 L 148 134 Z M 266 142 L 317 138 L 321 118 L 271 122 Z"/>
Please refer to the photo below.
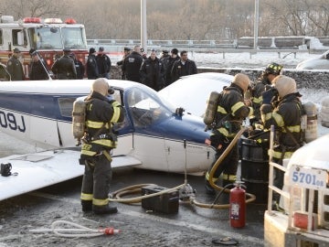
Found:
<path fill-rule="evenodd" d="M 0 200 L 82 176 L 79 157 L 80 151 L 60 149 L 0 158 L 0 164 L 12 166 L 11 176 L 0 176 Z M 114 156 L 111 162 L 112 168 L 141 164 L 131 156 Z"/>

